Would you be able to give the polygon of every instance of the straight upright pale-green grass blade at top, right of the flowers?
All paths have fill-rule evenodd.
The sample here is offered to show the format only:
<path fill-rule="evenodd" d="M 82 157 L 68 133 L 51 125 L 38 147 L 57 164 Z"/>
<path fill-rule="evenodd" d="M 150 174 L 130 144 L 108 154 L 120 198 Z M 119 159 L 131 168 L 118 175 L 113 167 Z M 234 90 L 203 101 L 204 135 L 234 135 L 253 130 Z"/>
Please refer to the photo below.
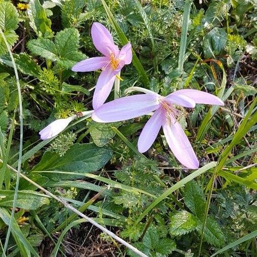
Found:
<path fill-rule="evenodd" d="M 189 15 L 190 15 L 191 4 L 192 4 L 192 0 L 186 0 L 185 4 L 184 4 L 182 31 L 181 31 L 179 57 L 178 57 L 178 70 L 180 73 L 182 73 L 182 71 L 183 71 L 184 56 L 185 56 L 185 50 L 186 50 L 187 30 L 188 30 L 188 25 L 189 25 Z"/>

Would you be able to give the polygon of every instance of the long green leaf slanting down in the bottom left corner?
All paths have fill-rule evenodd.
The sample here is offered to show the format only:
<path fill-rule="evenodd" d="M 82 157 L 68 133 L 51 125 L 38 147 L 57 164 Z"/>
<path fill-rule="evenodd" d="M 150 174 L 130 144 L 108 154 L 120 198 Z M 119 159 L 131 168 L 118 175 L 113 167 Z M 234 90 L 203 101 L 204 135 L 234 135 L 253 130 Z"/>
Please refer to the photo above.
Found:
<path fill-rule="evenodd" d="M 7 209 L 0 207 L 0 218 L 5 222 L 7 226 L 9 226 L 11 215 Z M 33 248 L 33 246 L 24 237 L 17 222 L 16 221 L 14 222 L 14 220 L 12 221 L 12 224 L 11 224 L 11 232 L 17 244 L 19 243 L 22 244 L 27 249 L 27 251 L 30 251 L 34 256 L 40 257 L 39 254 L 36 252 L 36 250 Z"/>

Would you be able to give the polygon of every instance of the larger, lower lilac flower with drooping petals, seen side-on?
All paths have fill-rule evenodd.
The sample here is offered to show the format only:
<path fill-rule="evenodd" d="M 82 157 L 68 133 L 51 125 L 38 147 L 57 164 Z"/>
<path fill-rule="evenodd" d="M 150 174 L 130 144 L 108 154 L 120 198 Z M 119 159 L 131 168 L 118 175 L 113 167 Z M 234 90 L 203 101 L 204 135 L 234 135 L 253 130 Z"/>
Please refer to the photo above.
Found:
<path fill-rule="evenodd" d="M 143 91 L 143 90 L 141 90 Z M 167 97 L 150 90 L 146 94 L 123 97 L 102 105 L 92 114 L 97 122 L 115 122 L 146 115 L 155 111 L 145 124 L 138 140 L 138 150 L 147 151 L 153 144 L 160 127 L 173 154 L 189 169 L 197 169 L 199 161 L 177 118 L 181 107 L 194 108 L 196 104 L 224 105 L 214 95 L 195 89 L 181 89 Z"/>

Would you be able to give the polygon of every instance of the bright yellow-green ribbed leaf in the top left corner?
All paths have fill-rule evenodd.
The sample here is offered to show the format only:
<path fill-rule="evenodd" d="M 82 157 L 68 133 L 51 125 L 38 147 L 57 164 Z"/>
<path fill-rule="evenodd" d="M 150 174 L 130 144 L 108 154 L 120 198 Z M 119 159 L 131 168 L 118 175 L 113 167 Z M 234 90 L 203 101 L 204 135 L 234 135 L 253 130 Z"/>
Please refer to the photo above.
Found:
<path fill-rule="evenodd" d="M 0 1 L 0 28 L 2 29 L 7 42 L 13 46 L 18 39 L 15 29 L 18 27 L 18 13 L 10 2 Z M 0 56 L 7 53 L 7 47 L 3 37 L 0 37 Z"/>

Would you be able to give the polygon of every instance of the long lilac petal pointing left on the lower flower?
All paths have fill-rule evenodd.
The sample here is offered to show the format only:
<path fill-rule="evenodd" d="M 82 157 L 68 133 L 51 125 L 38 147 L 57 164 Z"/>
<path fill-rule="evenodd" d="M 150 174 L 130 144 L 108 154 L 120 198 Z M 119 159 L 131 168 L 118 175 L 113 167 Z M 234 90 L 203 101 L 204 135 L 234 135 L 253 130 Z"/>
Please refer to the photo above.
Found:
<path fill-rule="evenodd" d="M 132 119 L 156 110 L 159 106 L 159 95 L 137 94 L 123 97 L 102 105 L 93 114 L 97 122 L 115 122 Z"/>

